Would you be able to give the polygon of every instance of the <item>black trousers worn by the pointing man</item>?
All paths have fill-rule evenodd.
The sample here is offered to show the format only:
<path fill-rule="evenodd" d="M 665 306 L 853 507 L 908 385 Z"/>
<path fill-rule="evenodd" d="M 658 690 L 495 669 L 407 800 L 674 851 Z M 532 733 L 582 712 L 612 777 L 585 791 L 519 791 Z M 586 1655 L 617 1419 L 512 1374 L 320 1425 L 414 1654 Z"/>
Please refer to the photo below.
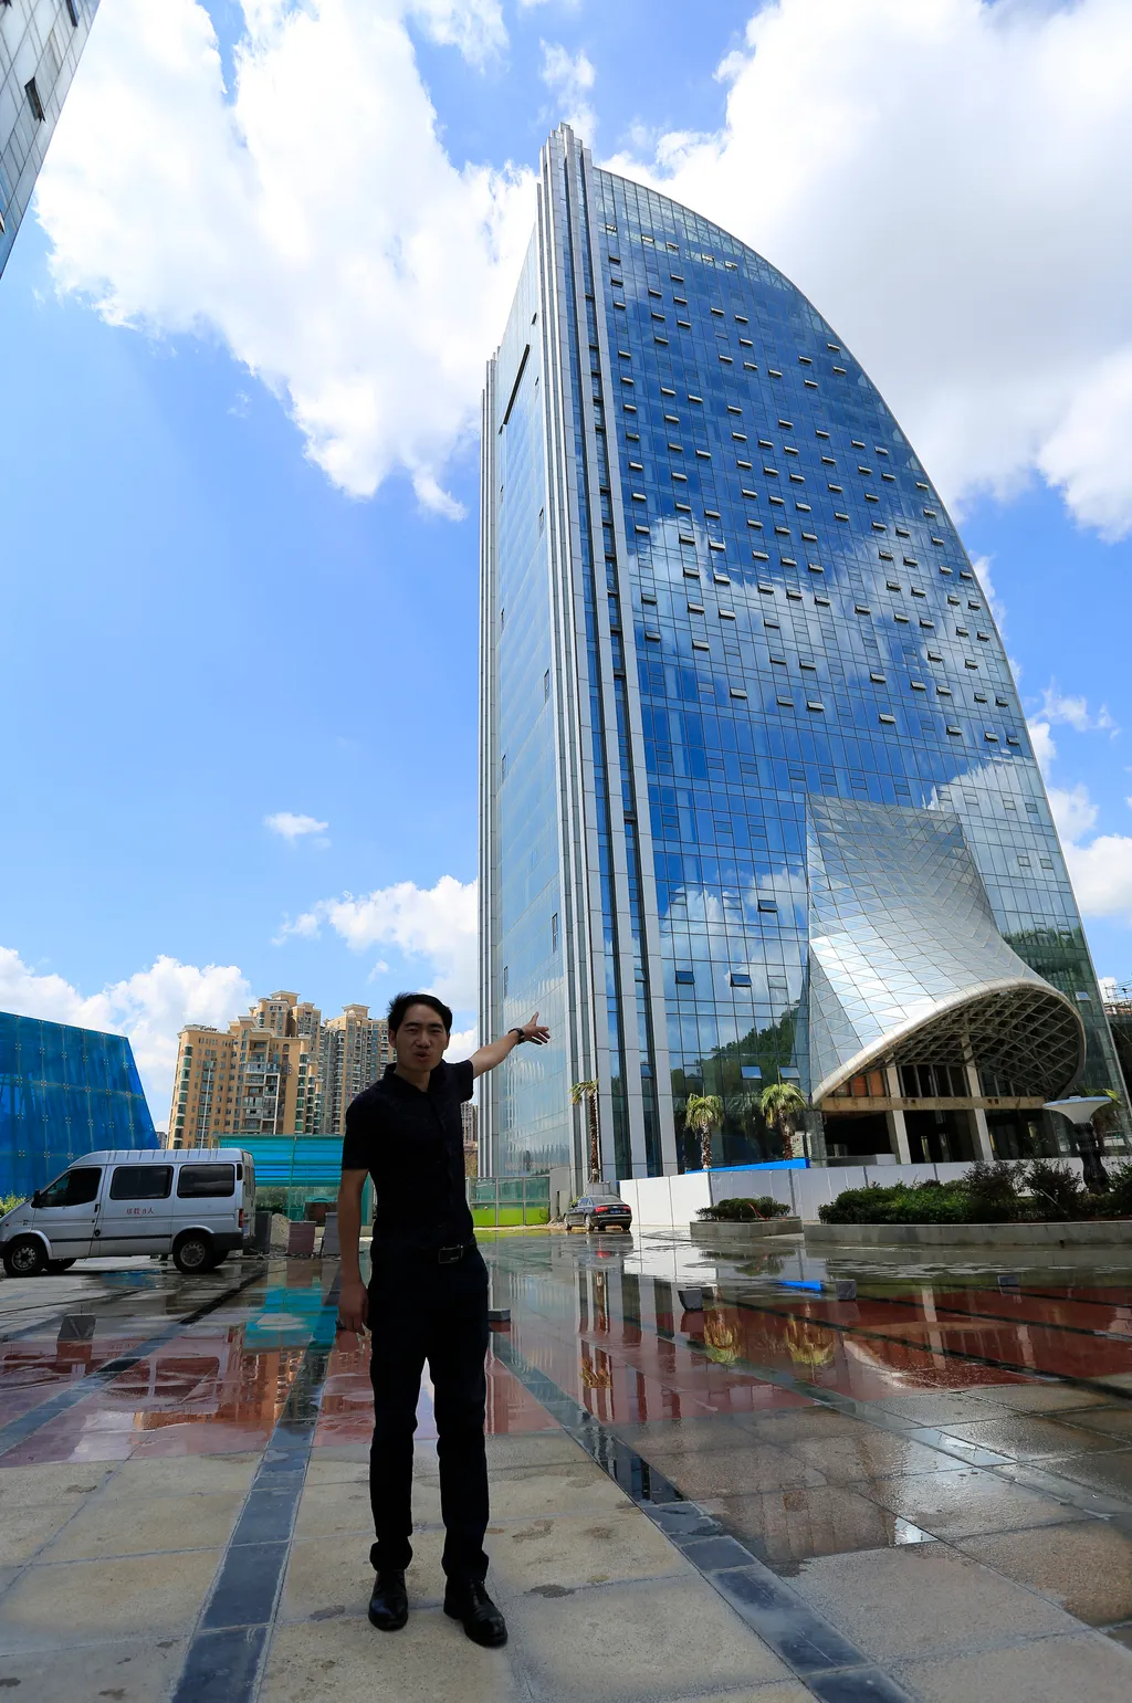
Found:
<path fill-rule="evenodd" d="M 483 1579 L 487 1555 L 487 1267 L 477 1248 L 461 1260 L 373 1255 L 369 1279 L 373 1446 L 369 1500 L 376 1568 L 412 1560 L 412 1437 L 427 1359 L 436 1405 L 444 1572 Z"/>

